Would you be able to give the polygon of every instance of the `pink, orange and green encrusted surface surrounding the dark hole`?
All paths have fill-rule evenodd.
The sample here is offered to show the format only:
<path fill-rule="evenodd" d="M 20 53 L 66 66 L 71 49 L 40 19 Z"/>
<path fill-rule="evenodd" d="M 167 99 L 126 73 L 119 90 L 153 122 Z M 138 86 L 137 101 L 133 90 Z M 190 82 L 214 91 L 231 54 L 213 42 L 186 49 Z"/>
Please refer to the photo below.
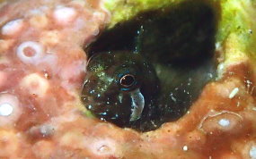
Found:
<path fill-rule="evenodd" d="M 1 4 L 0 158 L 255 158 L 256 4 L 252 0 L 204 0 L 217 15 L 218 79 L 207 84 L 180 120 L 139 133 L 93 118 L 80 101 L 86 74 L 83 47 L 110 21 L 110 14 L 115 17 L 111 24 L 116 24 L 154 8 L 154 2 L 177 1 L 104 0 L 114 4 L 108 6 L 108 13 L 95 0 Z M 39 8 L 42 17 L 37 16 Z M 55 11 L 56 15 L 68 11 L 68 18 L 56 21 Z M 43 53 L 36 56 L 36 64 L 20 59 L 25 54 L 17 55 L 17 47 L 28 44 L 33 44 L 25 49 L 28 56 Z"/>

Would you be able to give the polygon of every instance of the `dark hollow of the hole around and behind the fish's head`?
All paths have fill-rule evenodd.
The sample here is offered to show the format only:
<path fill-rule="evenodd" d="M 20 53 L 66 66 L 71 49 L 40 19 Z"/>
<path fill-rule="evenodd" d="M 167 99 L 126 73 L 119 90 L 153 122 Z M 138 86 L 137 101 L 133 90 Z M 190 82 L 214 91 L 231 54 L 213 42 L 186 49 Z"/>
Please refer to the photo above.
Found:
<path fill-rule="evenodd" d="M 89 57 L 114 51 L 140 54 L 153 65 L 157 76 L 154 97 L 146 101 L 139 120 L 105 120 L 119 127 L 148 131 L 180 119 L 198 99 L 202 88 L 216 78 L 215 35 L 216 14 L 201 2 L 185 2 L 140 13 L 130 21 L 103 31 L 85 48 Z M 146 90 L 141 88 L 142 94 L 146 95 Z M 84 105 L 88 105 L 86 102 Z"/>

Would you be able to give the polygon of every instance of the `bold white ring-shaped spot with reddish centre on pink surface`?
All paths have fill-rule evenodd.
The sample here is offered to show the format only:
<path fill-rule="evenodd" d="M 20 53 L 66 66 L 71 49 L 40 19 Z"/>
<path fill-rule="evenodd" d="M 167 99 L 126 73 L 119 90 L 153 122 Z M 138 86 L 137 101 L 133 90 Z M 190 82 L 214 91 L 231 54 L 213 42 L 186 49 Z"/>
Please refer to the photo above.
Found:
<path fill-rule="evenodd" d="M 23 63 L 38 63 L 44 53 L 40 43 L 33 41 L 23 42 L 17 48 L 17 56 Z"/>

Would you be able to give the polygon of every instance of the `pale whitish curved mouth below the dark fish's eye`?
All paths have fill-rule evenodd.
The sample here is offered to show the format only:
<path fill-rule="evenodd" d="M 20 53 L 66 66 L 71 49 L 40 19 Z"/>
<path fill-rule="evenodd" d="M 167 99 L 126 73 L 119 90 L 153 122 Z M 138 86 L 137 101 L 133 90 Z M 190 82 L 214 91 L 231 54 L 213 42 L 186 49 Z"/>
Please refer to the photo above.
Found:
<path fill-rule="evenodd" d="M 131 97 L 131 115 L 129 121 L 137 121 L 140 119 L 141 114 L 145 106 L 145 98 L 140 92 L 140 89 L 137 88 L 134 91 L 130 92 Z"/>

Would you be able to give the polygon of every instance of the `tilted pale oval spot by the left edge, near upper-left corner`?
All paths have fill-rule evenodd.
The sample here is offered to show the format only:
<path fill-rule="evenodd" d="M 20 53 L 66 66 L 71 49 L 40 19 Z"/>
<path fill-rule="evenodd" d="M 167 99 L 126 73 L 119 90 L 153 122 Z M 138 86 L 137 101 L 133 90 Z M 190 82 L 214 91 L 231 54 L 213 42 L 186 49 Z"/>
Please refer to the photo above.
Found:
<path fill-rule="evenodd" d="M 23 26 L 23 20 L 17 19 L 14 21 L 7 22 L 4 27 L 2 28 L 2 34 L 3 35 L 13 35 L 20 31 Z"/>

